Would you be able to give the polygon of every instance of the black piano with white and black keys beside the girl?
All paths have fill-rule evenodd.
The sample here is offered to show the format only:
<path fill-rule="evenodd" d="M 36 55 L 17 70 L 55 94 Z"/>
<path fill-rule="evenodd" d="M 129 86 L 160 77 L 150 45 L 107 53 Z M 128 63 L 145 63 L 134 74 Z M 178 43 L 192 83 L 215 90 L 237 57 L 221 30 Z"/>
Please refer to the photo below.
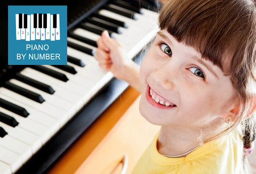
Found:
<path fill-rule="evenodd" d="M 26 3 L 17 1 L 7 5 Z M 159 4 L 151 1 L 44 3 L 40 5 L 68 5 L 68 63 L 7 65 L 7 36 L 3 36 L 0 54 L 0 173 L 46 173 L 129 86 L 111 72 L 101 69 L 93 57 L 96 41 L 103 30 L 108 30 L 110 37 L 123 45 L 127 57 L 137 64 L 145 54 L 143 48 L 158 31 L 156 11 Z M 7 5 L 3 5 L 5 14 Z M 43 30 L 47 32 L 49 27 L 47 16 L 18 14 L 16 29 L 26 31 L 28 20 L 32 19 L 30 30 L 41 32 L 41 38 L 35 36 L 34 39 L 42 39 Z M 1 22 L 6 23 L 0 27 L 2 34 L 7 33 L 6 18 L 7 15 L 1 15 Z M 26 39 L 22 35 L 17 38 Z"/>

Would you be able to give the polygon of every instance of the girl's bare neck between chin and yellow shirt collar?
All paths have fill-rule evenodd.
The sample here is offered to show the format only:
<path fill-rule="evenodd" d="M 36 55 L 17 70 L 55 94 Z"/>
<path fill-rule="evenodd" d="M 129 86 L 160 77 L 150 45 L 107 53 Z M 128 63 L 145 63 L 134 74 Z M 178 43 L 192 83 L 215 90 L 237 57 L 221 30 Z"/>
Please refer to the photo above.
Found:
<path fill-rule="evenodd" d="M 200 130 L 196 129 L 162 126 L 157 150 L 163 155 L 185 154 L 199 146 L 197 138 L 199 135 Z"/>

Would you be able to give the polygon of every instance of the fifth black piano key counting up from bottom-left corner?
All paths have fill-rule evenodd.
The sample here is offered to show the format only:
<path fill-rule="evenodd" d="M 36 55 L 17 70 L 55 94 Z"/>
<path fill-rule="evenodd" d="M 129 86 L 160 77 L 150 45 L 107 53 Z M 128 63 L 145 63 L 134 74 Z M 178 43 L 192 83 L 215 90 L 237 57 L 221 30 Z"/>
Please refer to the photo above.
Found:
<path fill-rule="evenodd" d="M 31 79 L 31 78 L 29 78 L 27 76 L 23 76 L 19 72 L 16 73 L 16 76 L 14 76 L 14 78 L 17 79 L 17 80 L 20 80 L 22 82 L 25 82 L 25 84 L 33 86 L 33 87 L 35 87 L 37 89 L 43 90 L 45 93 L 53 94 L 55 92 L 55 90 L 51 86 L 46 85 L 46 84 L 44 84 L 41 81 L 37 81 L 37 80 Z"/>

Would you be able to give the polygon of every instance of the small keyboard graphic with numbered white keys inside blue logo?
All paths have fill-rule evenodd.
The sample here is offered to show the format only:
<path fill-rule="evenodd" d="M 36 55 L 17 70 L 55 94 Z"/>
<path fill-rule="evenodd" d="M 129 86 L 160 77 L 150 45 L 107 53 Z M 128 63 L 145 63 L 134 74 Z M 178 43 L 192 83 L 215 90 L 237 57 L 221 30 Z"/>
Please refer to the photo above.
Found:
<path fill-rule="evenodd" d="M 15 14 L 16 40 L 60 40 L 60 14 Z"/>

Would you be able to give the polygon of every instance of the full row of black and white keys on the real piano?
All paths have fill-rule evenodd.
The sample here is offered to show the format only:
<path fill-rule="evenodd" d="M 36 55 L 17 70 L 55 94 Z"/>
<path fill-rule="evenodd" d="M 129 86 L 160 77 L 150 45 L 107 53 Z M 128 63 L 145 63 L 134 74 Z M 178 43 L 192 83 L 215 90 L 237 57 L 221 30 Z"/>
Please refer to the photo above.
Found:
<path fill-rule="evenodd" d="M 39 39 L 33 31 L 45 39 L 50 31 L 57 39 L 58 18 L 16 14 L 17 39 L 25 39 L 22 31 L 29 31 L 29 25 L 31 40 Z M 67 65 L 29 66 L 5 81 L 0 87 L 0 173 L 17 172 L 114 77 L 93 57 L 103 30 L 132 59 L 155 37 L 157 18 L 156 12 L 127 1 L 112 1 L 68 31 Z"/>

